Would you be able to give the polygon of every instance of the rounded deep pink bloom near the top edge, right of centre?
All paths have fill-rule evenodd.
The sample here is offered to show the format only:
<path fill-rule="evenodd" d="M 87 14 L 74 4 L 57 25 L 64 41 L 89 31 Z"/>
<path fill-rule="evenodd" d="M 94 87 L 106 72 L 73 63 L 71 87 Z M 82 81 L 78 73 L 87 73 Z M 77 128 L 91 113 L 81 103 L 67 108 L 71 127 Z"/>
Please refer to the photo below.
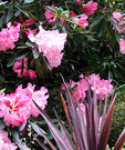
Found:
<path fill-rule="evenodd" d="M 82 10 L 86 16 L 91 16 L 97 9 L 97 2 L 88 1 L 86 4 L 83 3 Z"/>

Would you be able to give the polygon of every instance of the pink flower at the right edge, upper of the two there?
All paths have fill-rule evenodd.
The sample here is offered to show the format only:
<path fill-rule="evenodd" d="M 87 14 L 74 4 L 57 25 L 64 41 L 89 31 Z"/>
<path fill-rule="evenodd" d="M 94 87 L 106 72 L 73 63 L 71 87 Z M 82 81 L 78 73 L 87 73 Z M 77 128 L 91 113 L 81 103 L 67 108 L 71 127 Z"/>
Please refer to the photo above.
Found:
<path fill-rule="evenodd" d="M 116 20 L 115 20 L 114 18 L 115 18 Z M 124 23 L 125 23 L 125 17 L 123 17 L 123 16 L 121 14 L 121 12 L 114 11 L 114 12 L 113 12 L 113 21 L 114 21 L 117 26 L 124 24 Z M 118 28 L 119 28 L 119 30 L 121 30 L 122 32 L 125 31 L 125 26 L 118 27 Z"/>

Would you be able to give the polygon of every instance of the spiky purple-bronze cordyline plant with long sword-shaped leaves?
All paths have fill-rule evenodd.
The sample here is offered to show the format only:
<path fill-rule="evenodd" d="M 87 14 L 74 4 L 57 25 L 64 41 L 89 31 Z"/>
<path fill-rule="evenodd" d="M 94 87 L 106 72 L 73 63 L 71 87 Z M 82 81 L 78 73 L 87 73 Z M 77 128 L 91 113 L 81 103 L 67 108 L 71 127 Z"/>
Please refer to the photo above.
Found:
<path fill-rule="evenodd" d="M 37 108 L 40 110 L 41 116 L 46 121 L 49 129 L 59 149 L 60 150 L 105 150 L 107 146 L 108 136 L 110 136 L 110 128 L 111 128 L 113 108 L 114 108 L 116 94 L 112 97 L 111 104 L 107 111 L 106 111 L 107 98 L 105 99 L 102 121 L 100 123 L 101 107 L 100 109 L 97 109 L 96 94 L 94 93 L 92 98 L 91 90 L 88 90 L 87 101 L 84 101 L 84 104 L 85 104 L 85 118 L 84 118 L 80 103 L 77 102 L 77 109 L 76 109 L 75 104 L 73 103 L 72 96 L 67 88 L 67 84 L 65 83 L 64 80 L 63 82 L 65 86 L 67 106 L 65 104 L 65 101 L 62 94 L 61 94 L 61 99 L 63 102 L 63 107 L 65 110 L 65 114 L 67 118 L 67 122 L 72 132 L 72 136 L 70 136 L 67 129 L 62 123 L 55 110 L 54 112 L 59 120 L 59 124 L 62 131 L 60 131 L 55 127 L 55 124 L 52 122 L 49 116 L 34 102 Z M 52 148 L 52 150 L 56 150 L 56 148 L 43 133 L 41 128 L 39 128 L 35 123 L 31 123 L 31 126 L 34 130 L 39 130 L 40 134 L 46 140 L 46 142 Z M 44 150 L 48 150 L 48 148 L 39 139 L 35 138 L 35 140 L 40 143 L 40 146 Z M 122 134 L 116 141 L 116 144 L 114 146 L 114 150 L 121 150 L 124 147 L 124 142 L 125 142 L 125 129 L 123 130 Z"/>

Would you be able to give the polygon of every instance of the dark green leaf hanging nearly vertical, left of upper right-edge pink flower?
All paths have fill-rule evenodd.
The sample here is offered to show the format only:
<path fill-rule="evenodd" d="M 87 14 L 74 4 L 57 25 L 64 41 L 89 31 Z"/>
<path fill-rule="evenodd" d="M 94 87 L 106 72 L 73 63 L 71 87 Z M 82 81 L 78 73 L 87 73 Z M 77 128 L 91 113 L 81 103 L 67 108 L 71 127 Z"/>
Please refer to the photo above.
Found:
<path fill-rule="evenodd" d="M 100 22 L 98 30 L 97 30 L 98 37 L 101 37 L 105 30 L 105 22 L 106 22 L 105 18 L 103 18 Z"/>

